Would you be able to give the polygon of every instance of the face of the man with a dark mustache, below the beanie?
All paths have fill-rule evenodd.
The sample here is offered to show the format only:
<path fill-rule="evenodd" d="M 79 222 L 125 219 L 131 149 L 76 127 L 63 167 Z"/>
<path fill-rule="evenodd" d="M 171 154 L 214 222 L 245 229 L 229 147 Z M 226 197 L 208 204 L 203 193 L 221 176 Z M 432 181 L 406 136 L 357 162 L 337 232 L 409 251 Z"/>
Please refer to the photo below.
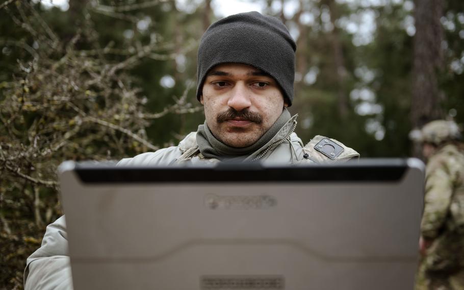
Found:
<path fill-rule="evenodd" d="M 287 103 L 276 81 L 245 64 L 213 67 L 200 102 L 213 135 L 231 147 L 247 147 L 272 127 Z"/>

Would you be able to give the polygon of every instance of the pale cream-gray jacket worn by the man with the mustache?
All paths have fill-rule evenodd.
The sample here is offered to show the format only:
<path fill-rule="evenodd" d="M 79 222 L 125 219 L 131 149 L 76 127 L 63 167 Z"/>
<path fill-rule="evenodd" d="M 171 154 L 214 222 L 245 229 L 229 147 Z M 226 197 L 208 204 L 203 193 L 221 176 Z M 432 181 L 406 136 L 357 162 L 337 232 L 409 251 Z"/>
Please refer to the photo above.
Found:
<path fill-rule="evenodd" d="M 359 154 L 337 140 L 315 136 L 306 146 L 293 132 L 296 116 L 274 136 L 263 148 L 254 152 L 249 160 L 270 163 L 332 163 L 359 158 Z M 342 151 L 340 152 L 340 148 Z M 318 151 L 326 149 L 322 153 Z M 335 153 L 331 155 L 331 150 Z M 148 152 L 133 158 L 124 158 L 118 165 L 159 165 L 173 163 L 219 162 L 204 158 L 198 150 L 196 132 L 192 132 L 178 146 Z M 25 289 L 72 289 L 71 269 L 68 256 L 68 240 L 65 216 L 47 226 L 42 246 L 28 259 L 24 270 Z"/>

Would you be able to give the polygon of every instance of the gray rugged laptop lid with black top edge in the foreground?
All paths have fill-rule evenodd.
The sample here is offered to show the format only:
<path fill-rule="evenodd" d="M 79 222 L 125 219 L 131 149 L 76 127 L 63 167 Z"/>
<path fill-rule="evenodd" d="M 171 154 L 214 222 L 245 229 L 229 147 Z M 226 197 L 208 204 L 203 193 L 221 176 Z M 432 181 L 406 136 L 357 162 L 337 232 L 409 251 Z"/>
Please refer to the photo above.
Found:
<path fill-rule="evenodd" d="M 424 165 L 65 162 L 74 288 L 411 289 Z"/>

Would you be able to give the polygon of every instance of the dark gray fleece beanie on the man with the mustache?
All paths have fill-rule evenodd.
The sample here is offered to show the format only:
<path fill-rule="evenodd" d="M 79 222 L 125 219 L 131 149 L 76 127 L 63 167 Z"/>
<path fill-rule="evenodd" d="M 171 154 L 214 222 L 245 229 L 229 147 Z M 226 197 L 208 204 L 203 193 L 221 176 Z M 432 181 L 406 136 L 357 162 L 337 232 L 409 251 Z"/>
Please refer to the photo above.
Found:
<path fill-rule="evenodd" d="M 214 22 L 203 34 L 198 48 L 197 99 L 208 71 L 221 63 L 254 66 L 273 77 L 289 106 L 293 101 L 296 44 L 287 27 L 259 12 L 230 15 Z"/>

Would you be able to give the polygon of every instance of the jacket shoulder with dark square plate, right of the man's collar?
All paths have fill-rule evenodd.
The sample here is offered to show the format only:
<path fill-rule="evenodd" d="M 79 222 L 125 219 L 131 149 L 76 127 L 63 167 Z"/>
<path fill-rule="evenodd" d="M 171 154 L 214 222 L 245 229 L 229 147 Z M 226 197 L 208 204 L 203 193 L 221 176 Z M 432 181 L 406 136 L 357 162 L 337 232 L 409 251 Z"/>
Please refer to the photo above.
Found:
<path fill-rule="evenodd" d="M 346 162 L 359 159 L 359 153 L 342 142 L 316 135 L 303 147 L 303 157 L 316 163 Z"/>

